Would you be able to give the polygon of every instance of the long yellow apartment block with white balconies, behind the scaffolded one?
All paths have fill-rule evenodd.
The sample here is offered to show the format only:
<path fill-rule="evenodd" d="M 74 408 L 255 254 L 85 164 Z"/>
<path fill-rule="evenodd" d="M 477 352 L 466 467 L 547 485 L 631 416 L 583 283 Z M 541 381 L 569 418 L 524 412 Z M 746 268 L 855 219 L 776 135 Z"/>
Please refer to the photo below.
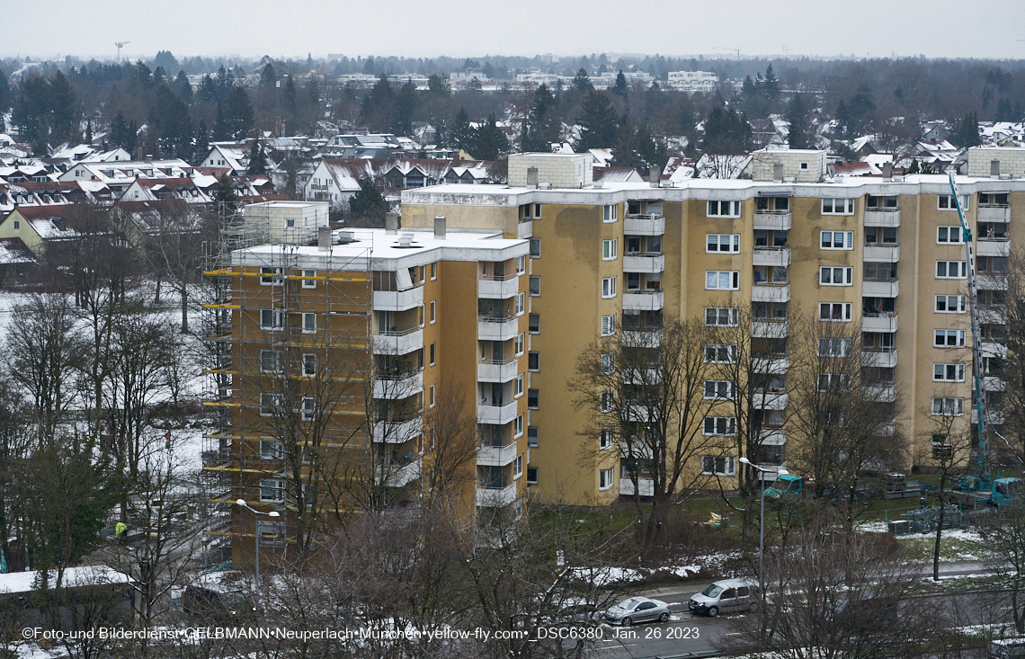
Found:
<path fill-rule="evenodd" d="M 907 445 L 894 467 L 933 461 L 935 417 L 969 421 L 965 245 L 946 176 L 829 178 L 825 152 L 764 151 L 752 179 L 602 186 L 581 158 L 512 155 L 509 186 L 402 196 L 404 228 L 444 216 L 449 228 L 529 241 L 525 422 L 531 481 L 542 496 L 602 504 L 631 491 L 615 457 L 597 466 L 579 459 L 599 440 L 581 436 L 586 412 L 575 408 L 568 382 L 596 338 L 657 329 L 663 315 L 714 323 L 716 310 L 749 305 L 752 354 L 780 358 L 787 318 L 798 310 L 822 322 L 860 323 L 861 348 L 883 388 L 874 402 L 886 403 L 897 388 L 890 383 L 900 383 L 894 423 L 879 430 L 900 428 Z M 988 369 L 1006 353 L 1010 246 L 1025 240 L 1014 230 L 1025 220 L 1025 150 L 973 149 L 968 174 L 956 184 L 977 240 Z M 986 388 L 998 425 L 1001 385 L 986 378 Z M 767 406 L 770 427 L 773 417 Z M 778 467 L 786 464 L 785 428 L 775 437 L 772 459 L 763 461 Z M 724 457 L 695 468 L 734 473 L 740 456 Z"/>

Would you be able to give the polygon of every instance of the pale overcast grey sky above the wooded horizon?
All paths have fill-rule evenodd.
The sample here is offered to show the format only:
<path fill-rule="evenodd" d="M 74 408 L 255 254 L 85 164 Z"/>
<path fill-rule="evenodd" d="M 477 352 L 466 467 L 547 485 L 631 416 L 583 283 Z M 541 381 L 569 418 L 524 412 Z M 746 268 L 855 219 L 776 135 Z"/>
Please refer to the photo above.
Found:
<path fill-rule="evenodd" d="M 5 0 L 0 55 L 1025 58 L 1023 0 Z"/>

